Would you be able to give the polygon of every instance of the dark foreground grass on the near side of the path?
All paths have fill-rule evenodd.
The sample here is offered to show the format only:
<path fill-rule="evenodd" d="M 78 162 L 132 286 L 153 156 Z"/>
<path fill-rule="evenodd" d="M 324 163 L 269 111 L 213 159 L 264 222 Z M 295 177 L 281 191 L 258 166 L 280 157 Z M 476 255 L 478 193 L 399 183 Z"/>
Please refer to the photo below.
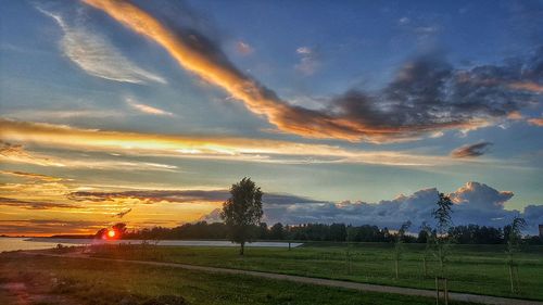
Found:
<path fill-rule="evenodd" d="M 195 255 L 200 255 L 200 251 L 212 252 L 203 249 L 168 249 L 167 252 L 182 253 L 189 250 L 194 250 Z M 213 253 L 223 253 L 219 255 L 223 257 L 229 251 L 233 250 L 217 250 Z M 157 295 L 171 295 L 171 305 L 434 304 L 433 300 L 424 297 L 367 293 L 247 276 L 67 257 L 0 254 L 0 304 L 166 304 L 153 300 Z"/>

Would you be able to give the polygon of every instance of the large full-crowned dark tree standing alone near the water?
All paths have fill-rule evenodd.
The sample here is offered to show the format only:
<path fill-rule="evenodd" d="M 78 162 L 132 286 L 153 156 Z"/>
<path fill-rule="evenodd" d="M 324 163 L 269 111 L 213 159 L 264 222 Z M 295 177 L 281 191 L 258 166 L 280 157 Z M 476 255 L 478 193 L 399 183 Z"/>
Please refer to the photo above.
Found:
<path fill-rule="evenodd" d="M 229 229 L 229 238 L 241 245 L 240 255 L 243 255 L 245 242 L 251 241 L 253 228 L 262 218 L 262 191 L 261 188 L 243 178 L 230 188 L 230 199 L 223 204 L 220 218 Z"/>

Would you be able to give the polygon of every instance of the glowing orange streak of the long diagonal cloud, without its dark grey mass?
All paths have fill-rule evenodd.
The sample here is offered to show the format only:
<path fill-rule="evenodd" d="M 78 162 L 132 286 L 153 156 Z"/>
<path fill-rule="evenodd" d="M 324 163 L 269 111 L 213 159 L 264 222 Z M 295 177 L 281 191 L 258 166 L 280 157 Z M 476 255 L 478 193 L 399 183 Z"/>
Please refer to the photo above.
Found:
<path fill-rule="evenodd" d="M 279 99 L 274 91 L 245 76 L 230 63 L 222 62 L 220 56 L 205 52 L 203 49 L 206 41 L 201 37 L 177 35 L 159 20 L 127 1 L 84 0 L 84 2 L 104 11 L 134 31 L 155 41 L 181 67 L 225 89 L 235 99 L 242 101 L 251 112 L 265 116 L 269 123 L 283 132 L 306 138 L 383 142 L 399 138 L 414 138 L 415 135 L 435 129 L 466 129 L 484 123 L 484 119 L 462 122 L 452 119 L 450 122 L 384 125 L 353 119 L 345 114 L 293 106 Z"/>

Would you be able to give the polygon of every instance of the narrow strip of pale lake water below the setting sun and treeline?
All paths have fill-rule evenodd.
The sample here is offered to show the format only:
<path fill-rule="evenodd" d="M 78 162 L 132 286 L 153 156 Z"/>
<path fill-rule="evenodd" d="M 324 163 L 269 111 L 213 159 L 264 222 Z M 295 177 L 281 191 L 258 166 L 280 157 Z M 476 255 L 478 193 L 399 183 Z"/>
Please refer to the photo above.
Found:
<path fill-rule="evenodd" d="M 16 250 L 41 250 L 62 245 L 87 245 L 87 244 L 118 244 L 118 243 L 142 243 L 142 240 L 94 240 L 94 239 L 51 239 L 51 238 L 0 238 L 0 252 Z M 302 243 L 293 242 L 292 247 Z M 163 240 L 159 245 L 164 246 L 239 246 L 224 240 Z M 251 242 L 245 246 L 267 246 L 267 247 L 288 247 L 288 242 Z"/>

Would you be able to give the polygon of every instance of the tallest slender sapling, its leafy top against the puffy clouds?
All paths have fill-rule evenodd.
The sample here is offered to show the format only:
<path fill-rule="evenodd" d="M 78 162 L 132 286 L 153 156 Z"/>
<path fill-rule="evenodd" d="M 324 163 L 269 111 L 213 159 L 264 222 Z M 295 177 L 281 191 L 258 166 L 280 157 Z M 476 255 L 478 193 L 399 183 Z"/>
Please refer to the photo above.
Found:
<path fill-rule="evenodd" d="M 439 194 L 439 200 L 435 203 L 437 207 L 432 211 L 432 216 L 435 219 L 435 258 L 440 264 L 440 276 L 445 276 L 445 262 L 449 254 L 449 245 L 451 242 L 449 229 L 453 225 L 451 214 L 453 213 L 453 202 L 451 198 L 444 193 Z"/>

